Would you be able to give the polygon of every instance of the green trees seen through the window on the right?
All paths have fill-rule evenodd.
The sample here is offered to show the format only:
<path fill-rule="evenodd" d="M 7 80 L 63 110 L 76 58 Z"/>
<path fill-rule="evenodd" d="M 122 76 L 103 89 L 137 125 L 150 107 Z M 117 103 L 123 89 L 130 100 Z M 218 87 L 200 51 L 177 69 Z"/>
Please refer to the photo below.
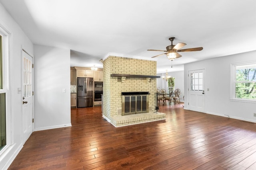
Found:
<path fill-rule="evenodd" d="M 256 99 L 256 68 L 236 68 L 236 98 Z"/>

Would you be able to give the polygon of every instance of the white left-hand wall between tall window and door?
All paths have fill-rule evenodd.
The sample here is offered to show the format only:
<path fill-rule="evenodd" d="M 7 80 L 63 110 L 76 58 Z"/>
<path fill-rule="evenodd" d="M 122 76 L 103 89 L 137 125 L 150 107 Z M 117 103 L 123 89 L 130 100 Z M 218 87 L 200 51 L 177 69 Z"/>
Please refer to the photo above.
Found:
<path fill-rule="evenodd" d="M 8 14 L 0 3 L 0 25 L 3 25 L 11 32 L 10 46 L 10 111 L 11 117 L 11 142 L 10 147 L 0 154 L 0 169 L 7 169 L 15 156 L 22 149 L 22 94 L 18 94 L 18 88 L 22 87 L 22 48 L 30 55 L 33 55 L 33 44 L 24 34 L 19 25 Z"/>

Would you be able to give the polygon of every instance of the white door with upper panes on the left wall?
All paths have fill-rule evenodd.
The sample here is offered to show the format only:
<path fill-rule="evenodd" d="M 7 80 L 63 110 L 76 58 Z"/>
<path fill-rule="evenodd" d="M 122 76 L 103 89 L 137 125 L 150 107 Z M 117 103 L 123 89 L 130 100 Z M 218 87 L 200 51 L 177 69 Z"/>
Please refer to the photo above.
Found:
<path fill-rule="evenodd" d="M 22 59 L 22 141 L 25 143 L 33 131 L 33 59 L 24 51 L 22 51 Z"/>

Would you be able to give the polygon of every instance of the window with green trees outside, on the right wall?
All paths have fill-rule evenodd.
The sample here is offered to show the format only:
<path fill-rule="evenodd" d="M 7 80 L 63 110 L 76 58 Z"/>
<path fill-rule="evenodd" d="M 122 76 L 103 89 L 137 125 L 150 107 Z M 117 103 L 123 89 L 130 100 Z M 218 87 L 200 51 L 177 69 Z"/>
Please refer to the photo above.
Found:
<path fill-rule="evenodd" d="M 256 61 L 232 65 L 232 99 L 256 101 Z"/>

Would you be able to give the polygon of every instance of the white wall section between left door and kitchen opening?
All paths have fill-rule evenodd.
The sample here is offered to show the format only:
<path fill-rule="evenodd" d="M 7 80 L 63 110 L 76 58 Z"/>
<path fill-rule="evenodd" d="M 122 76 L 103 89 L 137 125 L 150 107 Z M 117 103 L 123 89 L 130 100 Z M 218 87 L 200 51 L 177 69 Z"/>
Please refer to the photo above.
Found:
<path fill-rule="evenodd" d="M 34 131 L 71 126 L 70 50 L 34 45 L 34 56 Z"/>

